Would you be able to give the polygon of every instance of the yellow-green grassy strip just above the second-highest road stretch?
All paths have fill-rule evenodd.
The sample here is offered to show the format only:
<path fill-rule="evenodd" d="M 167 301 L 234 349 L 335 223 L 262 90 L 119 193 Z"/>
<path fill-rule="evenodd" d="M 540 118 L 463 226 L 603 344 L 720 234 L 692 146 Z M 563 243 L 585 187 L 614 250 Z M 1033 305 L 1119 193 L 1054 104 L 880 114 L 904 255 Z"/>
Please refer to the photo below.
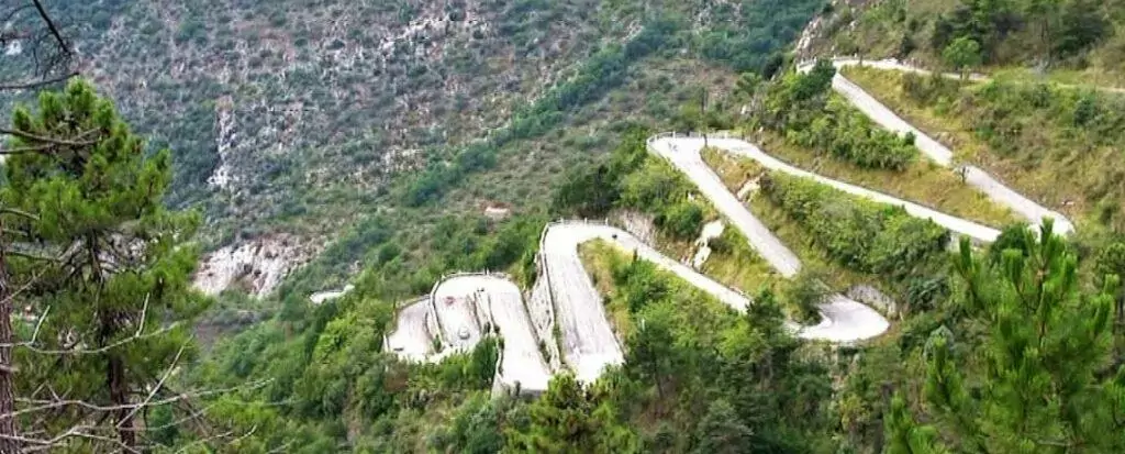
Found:
<path fill-rule="evenodd" d="M 948 214 L 993 226 L 1002 226 L 1018 220 L 1010 210 L 993 204 L 984 194 L 962 183 L 953 171 L 921 157 L 901 172 L 864 169 L 818 155 L 812 150 L 790 144 L 768 131 L 756 133 L 754 141 L 774 157 L 801 169 L 879 190 Z"/>

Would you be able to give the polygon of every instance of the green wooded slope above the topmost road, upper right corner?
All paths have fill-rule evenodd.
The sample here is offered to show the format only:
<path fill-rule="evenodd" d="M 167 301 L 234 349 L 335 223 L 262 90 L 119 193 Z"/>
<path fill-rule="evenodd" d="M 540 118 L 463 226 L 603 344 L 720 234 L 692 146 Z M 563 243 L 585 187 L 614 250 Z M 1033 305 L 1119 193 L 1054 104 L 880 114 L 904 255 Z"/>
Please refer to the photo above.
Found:
<path fill-rule="evenodd" d="M 807 55 L 894 56 L 930 68 L 1065 69 L 1122 81 L 1119 1 L 838 1 L 810 27 Z"/>

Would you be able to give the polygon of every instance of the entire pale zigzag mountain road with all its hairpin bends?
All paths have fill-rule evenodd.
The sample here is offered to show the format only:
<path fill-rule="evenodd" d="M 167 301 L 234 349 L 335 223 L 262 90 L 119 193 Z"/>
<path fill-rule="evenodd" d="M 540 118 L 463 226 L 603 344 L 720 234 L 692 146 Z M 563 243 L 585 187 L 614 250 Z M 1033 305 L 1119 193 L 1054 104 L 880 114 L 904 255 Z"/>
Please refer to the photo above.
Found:
<path fill-rule="evenodd" d="M 857 60 L 836 61 L 837 66 L 857 63 Z M 882 62 L 873 65 L 897 69 L 896 64 Z M 799 68 L 802 69 L 807 70 L 808 65 Z M 899 118 L 844 77 L 837 74 L 832 87 L 882 127 L 899 133 L 914 133 L 918 137 L 918 149 L 929 159 L 945 167 L 953 166 L 953 152 L 950 149 Z M 781 275 L 796 275 L 801 268 L 798 257 L 703 162 L 700 154 L 703 143 L 701 137 L 658 134 L 648 140 L 648 149 L 684 172 L 700 193 L 747 238 L 749 246 Z M 753 159 L 773 171 L 811 178 L 848 194 L 901 206 L 910 215 L 929 219 L 956 234 L 981 242 L 991 242 L 999 234 L 996 229 L 973 221 L 795 168 L 739 139 L 710 137 L 708 144 Z M 1073 224 L 1064 216 L 1027 199 L 983 170 L 971 166 L 964 167 L 964 170 L 966 181 L 997 203 L 1035 223 L 1043 217 L 1054 217 L 1058 231 L 1073 231 Z M 541 392 L 546 390 L 550 375 L 564 367 L 573 370 L 582 382 L 596 380 L 605 367 L 621 364 L 624 355 L 606 318 L 602 295 L 578 256 L 578 246 L 593 240 L 603 240 L 623 251 L 636 253 L 735 310 L 742 311 L 753 303 L 741 293 L 660 253 L 621 229 L 604 223 L 560 221 L 544 226 L 540 241 L 537 262 L 541 275 L 531 302 L 538 308 L 536 313 L 542 315 L 537 318 L 540 320 L 537 323 L 541 326 L 532 322 L 529 317 L 530 308 L 524 305 L 519 287 L 506 277 L 488 274 L 457 275 L 438 283 L 429 299 L 403 309 L 395 331 L 386 339 L 386 346 L 408 360 L 440 360 L 449 353 L 472 348 L 482 336 L 488 335 L 485 328 L 495 326 L 504 337 L 496 374 L 498 384 L 508 389 Z M 792 322 L 786 326 L 801 338 L 832 342 L 868 339 L 889 328 L 886 319 L 880 313 L 838 294 L 830 296 L 820 306 L 820 311 L 824 321 L 817 326 L 802 327 Z M 558 339 L 554 339 L 556 333 Z M 440 354 L 432 351 L 435 337 L 447 347 Z M 541 347 L 551 345 L 552 347 L 546 348 L 551 351 L 555 344 L 548 342 L 556 340 L 562 362 L 555 362 L 557 366 L 552 367 L 551 363 L 543 359 Z"/>

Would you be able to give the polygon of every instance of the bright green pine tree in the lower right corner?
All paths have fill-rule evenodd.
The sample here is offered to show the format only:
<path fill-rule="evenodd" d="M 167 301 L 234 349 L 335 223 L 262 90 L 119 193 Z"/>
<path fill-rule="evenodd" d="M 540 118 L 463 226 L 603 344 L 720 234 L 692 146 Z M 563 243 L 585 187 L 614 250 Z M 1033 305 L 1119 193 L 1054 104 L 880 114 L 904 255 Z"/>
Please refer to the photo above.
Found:
<path fill-rule="evenodd" d="M 1077 258 L 1051 223 L 1040 239 L 1024 234 L 1015 243 L 1027 250 L 997 261 L 962 242 L 962 309 L 988 333 L 979 345 L 947 329 L 932 335 L 926 400 L 968 452 L 1123 452 L 1125 372 L 1110 368 L 1117 279 L 1083 294 Z M 901 440 L 902 430 L 889 438 Z"/>

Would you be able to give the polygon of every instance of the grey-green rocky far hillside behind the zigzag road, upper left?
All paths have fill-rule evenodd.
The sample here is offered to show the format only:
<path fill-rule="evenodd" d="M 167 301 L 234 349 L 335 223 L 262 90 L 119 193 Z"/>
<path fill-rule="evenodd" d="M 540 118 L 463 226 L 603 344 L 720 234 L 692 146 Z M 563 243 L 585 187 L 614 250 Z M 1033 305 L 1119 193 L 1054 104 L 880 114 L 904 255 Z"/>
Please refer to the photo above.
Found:
<path fill-rule="evenodd" d="M 467 167 L 489 162 L 511 140 L 541 142 L 655 53 L 690 50 L 736 70 L 759 66 L 814 8 L 799 2 L 772 17 L 772 3 L 52 7 L 83 72 L 153 145 L 176 153 L 170 203 L 204 211 L 207 249 L 264 248 L 288 271 L 386 208 L 397 172 L 444 166 L 489 133 L 462 158 Z M 763 20 L 772 26 L 756 25 Z M 420 185 L 407 197 L 436 190 Z M 251 293 L 272 291 L 246 281 Z"/>

